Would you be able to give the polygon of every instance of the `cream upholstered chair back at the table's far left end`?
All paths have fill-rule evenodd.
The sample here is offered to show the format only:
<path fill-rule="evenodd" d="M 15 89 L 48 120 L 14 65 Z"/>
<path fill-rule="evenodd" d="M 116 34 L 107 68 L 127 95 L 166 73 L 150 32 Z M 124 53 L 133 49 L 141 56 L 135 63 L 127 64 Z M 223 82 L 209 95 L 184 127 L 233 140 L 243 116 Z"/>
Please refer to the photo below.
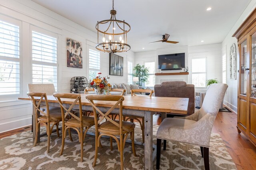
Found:
<path fill-rule="evenodd" d="M 28 92 L 40 92 L 40 93 L 46 93 L 47 95 L 54 94 L 55 88 L 54 84 L 28 84 Z"/>

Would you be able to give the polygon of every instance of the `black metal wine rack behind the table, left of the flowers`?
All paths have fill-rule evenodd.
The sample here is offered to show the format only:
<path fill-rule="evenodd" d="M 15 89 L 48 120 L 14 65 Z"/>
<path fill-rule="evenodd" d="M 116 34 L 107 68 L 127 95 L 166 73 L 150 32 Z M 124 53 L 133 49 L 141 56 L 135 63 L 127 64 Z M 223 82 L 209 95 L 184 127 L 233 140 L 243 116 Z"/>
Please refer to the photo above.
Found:
<path fill-rule="evenodd" d="M 86 77 L 72 77 L 70 80 L 70 93 L 84 94 L 88 81 Z"/>

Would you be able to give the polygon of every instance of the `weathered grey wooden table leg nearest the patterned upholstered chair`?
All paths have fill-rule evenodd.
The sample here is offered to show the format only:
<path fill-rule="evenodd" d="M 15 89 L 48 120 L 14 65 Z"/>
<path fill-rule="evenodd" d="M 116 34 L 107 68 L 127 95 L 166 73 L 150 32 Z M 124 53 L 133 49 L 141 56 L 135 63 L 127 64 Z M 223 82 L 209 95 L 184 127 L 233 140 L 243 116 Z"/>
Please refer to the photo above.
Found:
<path fill-rule="evenodd" d="M 153 112 L 145 111 L 145 143 L 144 143 L 144 158 L 145 170 L 153 169 Z"/>

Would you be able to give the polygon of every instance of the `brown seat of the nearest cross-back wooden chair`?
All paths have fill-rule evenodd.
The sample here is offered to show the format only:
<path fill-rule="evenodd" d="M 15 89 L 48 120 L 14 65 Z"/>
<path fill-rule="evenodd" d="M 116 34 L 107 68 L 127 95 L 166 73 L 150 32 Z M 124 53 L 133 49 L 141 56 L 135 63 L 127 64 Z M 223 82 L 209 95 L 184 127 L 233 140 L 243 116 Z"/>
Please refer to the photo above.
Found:
<path fill-rule="evenodd" d="M 119 124 L 119 121 L 115 121 L 115 122 Z M 128 121 L 123 121 L 123 127 L 126 127 L 129 131 L 132 131 L 135 128 L 135 124 Z M 110 121 L 105 121 L 98 127 L 98 131 L 102 133 L 107 133 L 107 134 L 119 134 L 119 127 L 117 127 Z M 128 132 L 123 130 L 123 134 L 125 133 L 128 133 Z"/>

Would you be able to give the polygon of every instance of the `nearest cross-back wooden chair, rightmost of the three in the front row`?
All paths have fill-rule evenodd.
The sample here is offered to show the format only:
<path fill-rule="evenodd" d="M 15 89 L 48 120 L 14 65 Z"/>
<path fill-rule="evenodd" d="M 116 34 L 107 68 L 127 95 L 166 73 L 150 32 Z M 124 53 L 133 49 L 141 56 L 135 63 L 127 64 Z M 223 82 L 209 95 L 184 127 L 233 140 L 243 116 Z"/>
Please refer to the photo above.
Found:
<path fill-rule="evenodd" d="M 114 96 L 114 95 L 88 95 L 86 99 L 92 105 L 92 109 L 94 112 L 94 121 L 95 121 L 95 156 L 94 162 L 92 166 L 96 165 L 97 156 L 98 156 L 98 147 L 100 146 L 100 137 L 103 135 L 109 136 L 110 138 L 114 138 L 116 140 L 118 150 L 120 151 L 120 162 L 121 162 L 121 170 L 124 169 L 124 145 L 128 134 L 130 133 L 131 140 L 132 140 L 132 152 L 134 156 L 136 156 L 135 147 L 134 147 L 134 128 L 135 124 L 131 122 L 122 121 L 122 108 L 123 108 L 123 96 Z M 95 106 L 94 100 L 96 101 L 113 101 L 116 102 L 114 106 L 112 106 L 106 113 L 103 113 Z M 119 116 L 121 121 L 114 121 L 108 117 L 108 115 L 119 105 Z M 96 111 L 102 115 L 100 119 L 97 119 Z M 100 124 L 101 121 L 107 119 L 104 123 Z M 99 134 L 101 133 L 101 134 Z M 120 136 L 120 141 L 117 139 L 116 136 Z M 110 146 L 111 147 L 111 146 Z"/>

